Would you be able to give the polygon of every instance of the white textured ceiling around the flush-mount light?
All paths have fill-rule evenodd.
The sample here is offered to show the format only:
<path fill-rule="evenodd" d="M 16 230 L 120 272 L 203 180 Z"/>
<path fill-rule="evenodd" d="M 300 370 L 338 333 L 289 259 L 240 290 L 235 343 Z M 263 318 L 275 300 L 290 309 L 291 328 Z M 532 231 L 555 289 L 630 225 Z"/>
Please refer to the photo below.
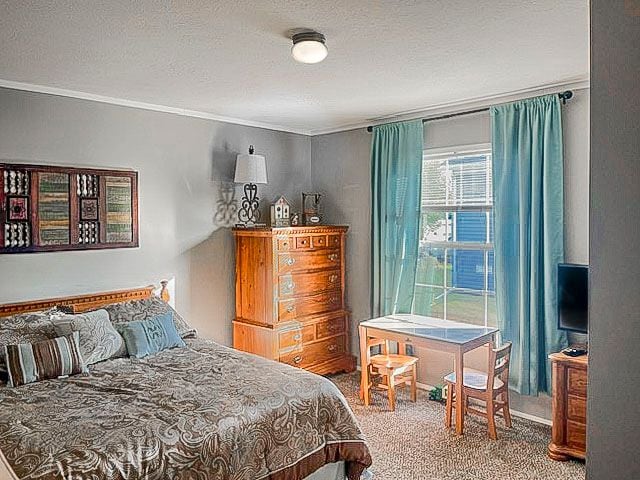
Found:
<path fill-rule="evenodd" d="M 588 0 L 2 0 L 0 80 L 317 133 L 585 80 L 588 28 Z"/>

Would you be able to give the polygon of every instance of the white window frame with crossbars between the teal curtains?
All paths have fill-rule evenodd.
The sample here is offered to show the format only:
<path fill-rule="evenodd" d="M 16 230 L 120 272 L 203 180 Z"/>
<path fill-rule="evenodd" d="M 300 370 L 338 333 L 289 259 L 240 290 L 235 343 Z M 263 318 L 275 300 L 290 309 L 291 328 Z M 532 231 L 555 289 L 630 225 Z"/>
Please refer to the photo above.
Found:
<path fill-rule="evenodd" d="M 423 151 L 423 162 L 425 160 L 446 160 L 451 158 L 461 158 L 466 156 L 473 155 L 488 155 L 489 162 L 491 165 L 492 159 L 492 149 L 491 143 L 480 143 L 480 144 L 471 144 L 471 145 L 460 145 L 453 147 L 444 147 L 444 148 L 429 148 Z M 424 167 L 424 163 L 423 163 Z M 485 242 L 464 242 L 464 241 L 429 241 L 422 242 L 420 239 L 420 246 L 427 245 L 428 248 L 439 248 L 443 251 L 443 264 L 445 266 L 443 272 L 443 280 L 442 285 L 434 285 L 431 283 L 419 283 L 417 280 L 415 282 L 415 287 L 418 288 L 431 288 L 431 289 L 440 289 L 443 292 L 444 300 L 443 300 L 443 314 L 442 317 L 448 320 L 447 315 L 447 296 L 450 292 L 473 292 L 482 294 L 484 300 L 484 318 L 482 326 L 489 326 L 489 297 L 492 295 L 495 297 L 495 276 L 494 276 L 494 289 L 489 290 L 489 255 L 493 252 L 494 255 L 494 269 L 495 269 L 495 250 L 494 243 L 491 242 L 491 214 L 493 213 L 494 205 L 493 205 L 493 185 L 491 185 L 493 172 L 491 171 L 490 175 L 486 176 L 487 182 L 487 195 L 489 196 L 490 203 L 476 203 L 476 204 L 460 204 L 460 205 L 432 205 L 427 208 L 423 206 L 422 198 L 420 200 L 420 215 L 422 221 L 422 215 L 427 212 L 443 212 L 445 214 L 458 213 L 458 212 L 485 212 L 487 215 L 486 219 L 486 241 Z M 455 220 L 454 220 L 455 222 Z M 449 225 L 446 222 L 446 234 L 445 238 L 448 238 L 449 234 Z M 483 266 L 484 266 L 484 282 L 482 290 L 470 289 L 470 288 L 460 288 L 454 286 L 448 286 L 448 271 L 447 271 L 447 262 L 448 256 L 450 255 L 450 250 L 474 250 L 474 251 L 482 251 L 483 252 Z M 495 275 L 495 274 L 494 274 Z M 415 299 L 416 295 L 414 294 L 413 303 L 411 306 L 412 313 L 415 312 Z M 419 313 L 417 313 L 419 314 Z M 453 320 L 461 323 L 469 323 L 464 320 Z"/>

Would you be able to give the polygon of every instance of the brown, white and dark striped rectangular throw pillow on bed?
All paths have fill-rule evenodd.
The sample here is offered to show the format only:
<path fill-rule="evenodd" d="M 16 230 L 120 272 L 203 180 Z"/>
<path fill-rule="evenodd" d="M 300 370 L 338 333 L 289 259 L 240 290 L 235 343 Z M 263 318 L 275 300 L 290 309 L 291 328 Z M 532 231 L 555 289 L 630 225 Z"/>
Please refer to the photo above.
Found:
<path fill-rule="evenodd" d="M 78 332 L 36 343 L 5 345 L 9 386 L 86 373 Z"/>

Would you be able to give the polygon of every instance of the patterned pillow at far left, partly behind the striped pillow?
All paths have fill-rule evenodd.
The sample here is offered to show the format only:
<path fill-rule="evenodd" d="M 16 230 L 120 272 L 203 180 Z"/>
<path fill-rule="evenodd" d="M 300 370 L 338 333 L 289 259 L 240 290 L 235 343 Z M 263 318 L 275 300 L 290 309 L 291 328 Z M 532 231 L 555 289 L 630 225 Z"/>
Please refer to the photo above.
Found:
<path fill-rule="evenodd" d="M 53 312 L 55 309 L 0 317 L 0 371 L 7 371 L 4 360 L 6 345 L 39 342 L 56 336 L 50 318 Z"/>

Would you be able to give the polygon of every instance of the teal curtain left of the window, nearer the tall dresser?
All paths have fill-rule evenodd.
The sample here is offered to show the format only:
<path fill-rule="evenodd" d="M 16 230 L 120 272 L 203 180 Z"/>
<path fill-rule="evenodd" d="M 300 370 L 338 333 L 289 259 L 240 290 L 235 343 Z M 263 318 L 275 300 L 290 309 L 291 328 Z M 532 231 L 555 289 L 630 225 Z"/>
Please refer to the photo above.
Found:
<path fill-rule="evenodd" d="M 420 230 L 421 120 L 373 127 L 371 311 L 411 313 Z"/>

